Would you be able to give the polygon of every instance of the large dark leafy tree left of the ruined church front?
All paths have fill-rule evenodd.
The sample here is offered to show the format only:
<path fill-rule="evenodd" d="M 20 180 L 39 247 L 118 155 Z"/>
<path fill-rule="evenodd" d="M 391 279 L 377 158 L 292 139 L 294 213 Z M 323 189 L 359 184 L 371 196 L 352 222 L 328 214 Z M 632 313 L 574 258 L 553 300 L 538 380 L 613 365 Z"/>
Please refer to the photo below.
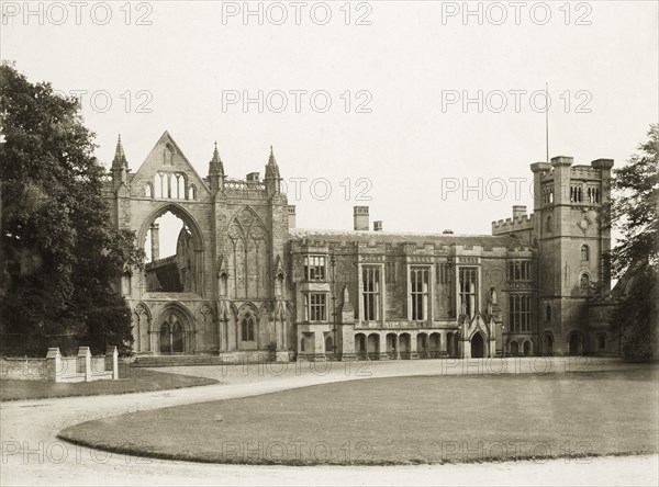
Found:
<path fill-rule="evenodd" d="M 0 124 L 3 352 L 127 351 L 130 309 L 113 285 L 141 251 L 132 233 L 112 228 L 104 170 L 77 100 L 3 64 Z"/>

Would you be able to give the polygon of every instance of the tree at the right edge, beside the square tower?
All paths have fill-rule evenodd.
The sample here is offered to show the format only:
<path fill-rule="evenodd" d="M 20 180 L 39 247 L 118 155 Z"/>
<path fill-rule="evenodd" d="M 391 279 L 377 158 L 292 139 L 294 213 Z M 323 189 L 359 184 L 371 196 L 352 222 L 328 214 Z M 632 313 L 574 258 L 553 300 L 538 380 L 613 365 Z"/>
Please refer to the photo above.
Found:
<path fill-rule="evenodd" d="M 623 237 L 613 250 L 617 306 L 612 331 L 621 337 L 624 358 L 657 353 L 659 319 L 659 125 L 627 165 L 614 171 L 612 219 Z"/>

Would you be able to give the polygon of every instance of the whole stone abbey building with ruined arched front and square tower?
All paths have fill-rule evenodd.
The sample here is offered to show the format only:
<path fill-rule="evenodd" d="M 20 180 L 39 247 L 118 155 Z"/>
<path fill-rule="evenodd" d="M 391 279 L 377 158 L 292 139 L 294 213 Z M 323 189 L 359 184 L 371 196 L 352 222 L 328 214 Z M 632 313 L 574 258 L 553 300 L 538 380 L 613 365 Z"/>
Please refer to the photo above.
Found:
<path fill-rule="evenodd" d="M 607 333 L 613 161 L 530 165 L 534 212 L 514 206 L 492 235 L 295 226 L 270 152 L 261 179 L 225 174 L 217 148 L 202 177 L 165 132 L 132 172 L 121 139 L 104 197 L 136 233 L 144 271 L 125 269 L 138 355 L 222 360 L 615 355 Z M 156 222 L 182 224 L 160 257 Z"/>

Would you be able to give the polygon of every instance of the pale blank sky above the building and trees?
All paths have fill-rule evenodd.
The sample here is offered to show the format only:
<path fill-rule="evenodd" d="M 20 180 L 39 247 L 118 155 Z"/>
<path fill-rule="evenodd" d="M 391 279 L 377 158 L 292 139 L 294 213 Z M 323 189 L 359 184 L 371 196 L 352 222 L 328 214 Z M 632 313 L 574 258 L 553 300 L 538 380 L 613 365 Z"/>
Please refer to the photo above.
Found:
<path fill-rule="evenodd" d="M 107 167 L 119 133 L 133 171 L 166 129 L 202 175 L 215 140 L 231 178 L 272 145 L 299 227 L 369 205 L 387 230 L 489 234 L 533 205 L 546 82 L 550 157 L 619 166 L 659 118 L 655 1 L 82 3 L 2 2 L 1 57 L 86 91 Z"/>

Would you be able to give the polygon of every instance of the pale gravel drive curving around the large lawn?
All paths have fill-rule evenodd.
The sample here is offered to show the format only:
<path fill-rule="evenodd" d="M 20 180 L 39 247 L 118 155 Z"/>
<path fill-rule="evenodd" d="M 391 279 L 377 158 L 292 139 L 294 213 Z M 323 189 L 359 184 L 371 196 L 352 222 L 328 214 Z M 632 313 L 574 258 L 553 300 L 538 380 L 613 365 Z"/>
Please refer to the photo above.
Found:
<path fill-rule="evenodd" d="M 2 403 L 0 482 L 2 485 L 658 485 L 658 455 L 394 467 L 242 466 L 112 454 L 56 438 L 66 427 L 124 412 L 337 381 L 436 374 L 589 372 L 634 366 L 613 360 L 538 358 L 165 369 L 220 378 L 222 383 L 121 396 Z M 139 373 L 139 370 L 133 371 Z"/>

